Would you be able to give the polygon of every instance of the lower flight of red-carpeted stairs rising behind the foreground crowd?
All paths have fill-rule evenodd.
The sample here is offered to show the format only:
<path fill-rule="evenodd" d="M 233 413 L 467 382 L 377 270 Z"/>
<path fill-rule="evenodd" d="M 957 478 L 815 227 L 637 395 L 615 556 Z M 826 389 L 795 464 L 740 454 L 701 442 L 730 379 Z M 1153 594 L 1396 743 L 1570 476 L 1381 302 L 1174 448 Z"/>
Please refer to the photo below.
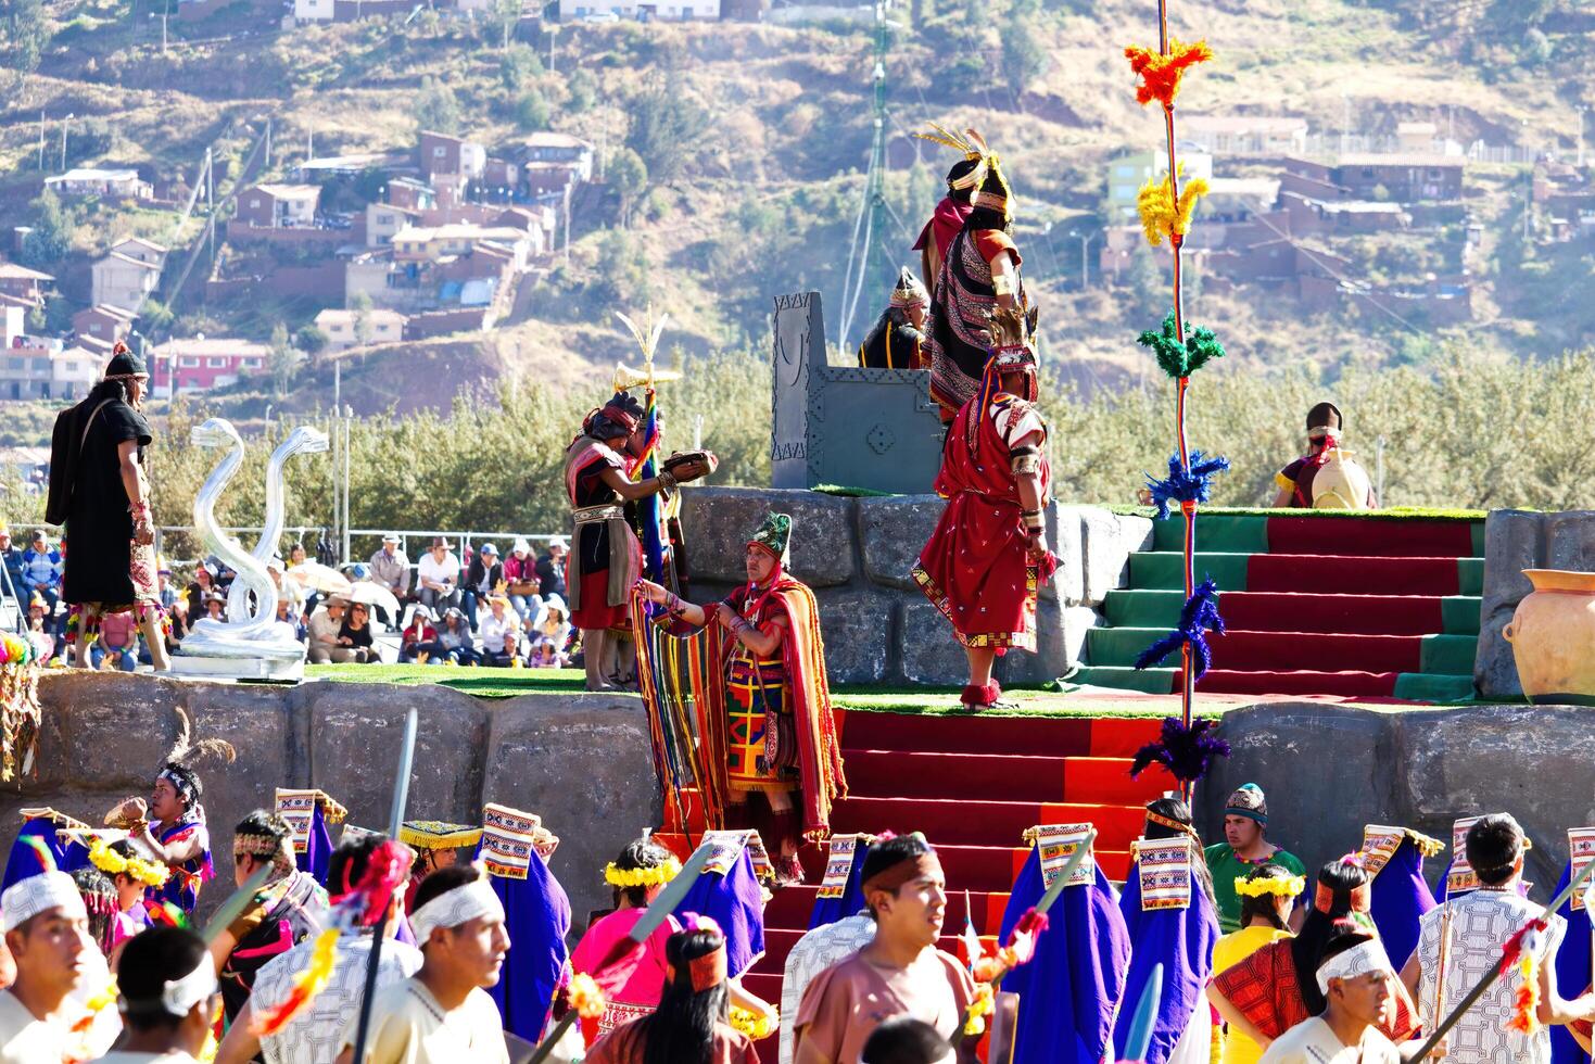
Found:
<path fill-rule="evenodd" d="M 1144 804 L 1174 786 L 1155 766 L 1129 778 L 1136 750 L 1156 739 L 1147 718 L 911 716 L 849 711 L 842 727 L 850 796 L 837 802 L 837 833 L 924 831 L 947 874 L 943 949 L 960 952 L 965 892 L 975 928 L 997 935 L 1008 889 L 1024 863 L 1021 834 L 1038 823 L 1089 820 L 1097 860 L 1115 881 L 1129 868 Z M 662 834 L 684 855 L 686 839 Z M 802 852 L 807 882 L 775 893 L 766 909 L 766 954 L 745 983 L 778 1002 L 782 967 L 807 930 L 825 849 Z M 774 1059 L 774 1053 L 770 1056 Z"/>

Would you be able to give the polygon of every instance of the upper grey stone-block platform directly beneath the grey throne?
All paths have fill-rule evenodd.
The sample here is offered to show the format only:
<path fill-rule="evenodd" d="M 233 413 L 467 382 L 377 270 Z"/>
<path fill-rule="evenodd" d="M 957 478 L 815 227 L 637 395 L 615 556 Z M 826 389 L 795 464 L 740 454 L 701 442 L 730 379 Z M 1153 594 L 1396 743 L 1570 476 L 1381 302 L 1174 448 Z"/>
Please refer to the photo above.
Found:
<path fill-rule="evenodd" d="M 683 493 L 692 597 L 707 601 L 746 582 L 748 533 L 770 510 L 793 517 L 791 573 L 815 589 L 825 660 L 836 683 L 962 684 L 963 651 L 909 569 L 936 528 L 935 495 L 841 498 L 802 490 L 689 488 Z M 1042 590 L 1038 648 L 998 660 L 1008 683 L 1062 676 L 1080 662 L 1107 593 L 1123 585 L 1152 522 L 1097 506 L 1051 502 L 1046 536 L 1062 560 Z"/>

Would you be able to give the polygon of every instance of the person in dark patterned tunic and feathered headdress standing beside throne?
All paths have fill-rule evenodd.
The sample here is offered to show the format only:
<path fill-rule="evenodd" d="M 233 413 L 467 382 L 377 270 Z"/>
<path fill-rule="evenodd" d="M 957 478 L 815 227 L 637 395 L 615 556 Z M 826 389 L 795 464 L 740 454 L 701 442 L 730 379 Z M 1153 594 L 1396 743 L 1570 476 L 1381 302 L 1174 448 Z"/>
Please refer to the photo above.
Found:
<path fill-rule="evenodd" d="M 1013 209 L 1008 179 L 997 156 L 987 158 L 975 209 L 947 246 L 941 276 L 931 286 L 930 397 L 941 405 L 941 420 L 952 421 L 975 397 L 986 368 L 987 322 L 992 311 L 1027 309 L 1024 258 L 1013 242 Z M 1030 322 L 1034 329 L 1034 321 Z"/>

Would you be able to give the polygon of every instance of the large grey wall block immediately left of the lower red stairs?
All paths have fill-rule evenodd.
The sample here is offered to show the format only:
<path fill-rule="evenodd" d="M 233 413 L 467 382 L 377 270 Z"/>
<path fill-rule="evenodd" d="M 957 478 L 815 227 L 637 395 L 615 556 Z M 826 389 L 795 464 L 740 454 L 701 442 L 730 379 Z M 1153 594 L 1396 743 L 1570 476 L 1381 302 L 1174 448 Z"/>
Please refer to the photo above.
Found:
<path fill-rule="evenodd" d="M 538 814 L 560 836 L 549 868 L 581 927 L 612 904 L 605 863 L 662 823 L 643 700 L 525 696 L 496 703 L 490 716 L 482 799 Z"/>

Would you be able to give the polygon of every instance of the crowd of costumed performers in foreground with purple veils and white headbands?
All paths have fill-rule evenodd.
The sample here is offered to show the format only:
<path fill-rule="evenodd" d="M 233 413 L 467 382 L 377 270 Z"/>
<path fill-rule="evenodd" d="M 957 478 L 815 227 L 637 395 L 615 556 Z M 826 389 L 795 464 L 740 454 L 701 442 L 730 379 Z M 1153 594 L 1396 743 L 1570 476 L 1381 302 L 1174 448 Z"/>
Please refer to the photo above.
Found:
<path fill-rule="evenodd" d="M 233 830 L 238 890 L 201 906 L 223 887 L 198 764 L 226 753 L 183 735 L 105 828 L 29 810 L 0 893 L 0 1064 L 343 1064 L 357 1045 L 376 1064 L 1396 1064 L 1453 1011 L 1434 1059 L 1589 1059 L 1595 892 L 1569 860 L 1557 909 L 1530 901 L 1506 814 L 1458 822 L 1439 897 L 1423 861 L 1443 845 L 1404 828 L 1308 877 L 1254 785 L 1209 847 L 1183 801 L 1152 801 L 1123 884 L 1091 825 L 1038 825 L 995 941 L 947 927 L 955 884 L 924 836 L 837 836 L 777 1005 L 743 979 L 780 889 L 745 830 L 686 865 L 665 836 L 627 844 L 582 927 L 533 814 L 345 825 L 333 845 L 345 810 L 279 790 Z"/>

